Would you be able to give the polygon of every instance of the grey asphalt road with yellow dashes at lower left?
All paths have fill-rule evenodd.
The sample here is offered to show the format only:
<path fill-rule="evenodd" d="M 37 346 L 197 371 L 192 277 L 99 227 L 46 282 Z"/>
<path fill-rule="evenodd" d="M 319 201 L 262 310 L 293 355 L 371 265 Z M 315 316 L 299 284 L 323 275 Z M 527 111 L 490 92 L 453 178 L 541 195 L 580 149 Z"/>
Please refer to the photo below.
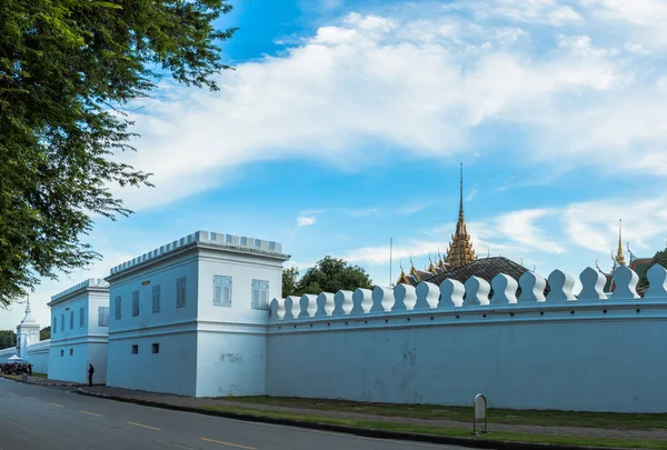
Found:
<path fill-rule="evenodd" d="M 0 378 L 0 450 L 425 450 L 360 438 L 83 397 Z"/>

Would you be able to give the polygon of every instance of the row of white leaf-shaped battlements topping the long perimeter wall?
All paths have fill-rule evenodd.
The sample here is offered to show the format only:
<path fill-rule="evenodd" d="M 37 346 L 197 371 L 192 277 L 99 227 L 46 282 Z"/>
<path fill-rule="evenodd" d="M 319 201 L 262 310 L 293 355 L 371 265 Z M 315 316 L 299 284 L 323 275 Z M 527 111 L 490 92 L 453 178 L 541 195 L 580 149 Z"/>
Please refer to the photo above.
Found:
<path fill-rule="evenodd" d="M 299 329 L 301 323 L 312 327 L 316 322 L 346 321 L 348 324 L 354 319 L 415 316 L 421 312 L 430 314 L 430 320 L 435 320 L 436 323 L 441 323 L 444 317 L 447 317 L 448 321 L 461 323 L 470 320 L 492 322 L 542 318 L 575 320 L 596 314 L 611 318 L 618 314 L 626 317 L 629 312 L 630 316 L 639 317 L 640 309 L 634 311 L 636 304 L 651 306 L 644 311 L 643 317 L 659 313 L 667 318 L 667 270 L 656 264 L 648 271 L 647 277 L 650 286 L 644 298 L 637 293 L 637 273 L 627 267 L 620 267 L 614 272 L 616 290 L 610 297 L 603 292 L 606 281 L 604 274 L 591 268 L 580 273 L 583 289 L 577 296 L 573 292 L 575 279 L 560 270 L 552 271 L 548 279 L 538 273 L 526 272 L 518 284 L 511 277 L 500 273 L 490 284 L 481 278 L 470 277 L 465 284 L 446 279 L 440 287 L 422 281 L 417 287 L 398 284 L 395 289 L 376 287 L 372 291 L 357 289 L 354 292 L 305 294 L 300 298 L 273 299 L 270 304 L 269 326 L 270 330 L 277 331 L 289 323 L 289 330 L 293 331 Z M 547 282 L 548 292 L 545 294 Z M 517 297 L 518 288 L 520 294 Z M 539 316 L 535 316 L 536 310 L 539 311 Z M 560 312 L 550 316 L 545 310 Z M 479 313 L 457 313 L 464 311 Z M 437 316 L 438 320 L 432 316 Z M 359 326 L 360 320 L 354 322 Z M 368 324 L 368 320 L 364 324 Z M 331 323 L 327 324 L 330 326 Z"/>

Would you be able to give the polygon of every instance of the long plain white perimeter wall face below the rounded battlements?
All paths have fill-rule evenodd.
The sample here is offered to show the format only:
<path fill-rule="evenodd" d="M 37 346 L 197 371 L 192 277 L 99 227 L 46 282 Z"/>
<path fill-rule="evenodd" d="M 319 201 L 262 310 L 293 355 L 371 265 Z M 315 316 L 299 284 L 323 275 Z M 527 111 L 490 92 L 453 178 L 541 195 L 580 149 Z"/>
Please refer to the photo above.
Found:
<path fill-rule="evenodd" d="M 269 326 L 267 394 L 665 412 L 666 341 L 667 299 L 291 319 Z"/>

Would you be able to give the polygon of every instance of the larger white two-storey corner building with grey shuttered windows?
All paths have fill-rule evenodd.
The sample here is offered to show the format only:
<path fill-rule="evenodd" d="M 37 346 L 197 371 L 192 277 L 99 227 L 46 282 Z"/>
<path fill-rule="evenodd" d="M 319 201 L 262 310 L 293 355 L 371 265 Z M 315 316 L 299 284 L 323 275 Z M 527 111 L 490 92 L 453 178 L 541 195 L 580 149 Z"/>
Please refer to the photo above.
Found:
<path fill-rule="evenodd" d="M 107 384 L 195 397 L 262 394 L 281 246 L 198 231 L 111 269 Z"/>

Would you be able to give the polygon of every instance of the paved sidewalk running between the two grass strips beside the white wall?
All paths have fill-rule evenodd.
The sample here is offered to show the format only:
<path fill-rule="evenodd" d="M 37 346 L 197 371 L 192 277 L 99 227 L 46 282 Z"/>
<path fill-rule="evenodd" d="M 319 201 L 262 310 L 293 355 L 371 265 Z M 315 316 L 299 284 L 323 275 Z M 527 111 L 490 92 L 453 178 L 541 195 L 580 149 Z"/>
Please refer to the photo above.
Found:
<path fill-rule="evenodd" d="M 410 423 L 437 428 L 457 428 L 469 429 L 472 431 L 472 423 L 459 422 L 454 420 L 428 420 L 401 417 L 387 417 L 376 414 L 365 414 L 344 411 L 327 411 L 316 409 L 286 408 L 271 404 L 257 404 L 247 402 L 237 402 L 233 400 L 211 399 L 211 398 L 191 398 L 179 397 L 163 393 L 152 393 L 142 391 L 131 391 L 126 389 L 109 388 L 106 386 L 93 386 L 92 388 L 79 388 L 82 393 L 96 394 L 99 397 L 109 397 L 118 400 L 131 401 L 137 403 L 160 403 L 165 407 L 176 407 L 180 409 L 202 409 L 208 407 L 230 407 L 257 411 L 287 412 L 307 417 L 326 417 L 339 419 L 357 419 L 374 422 L 387 423 Z M 157 404 L 156 404 L 157 406 Z M 666 440 L 667 430 L 611 430 L 585 427 L 538 427 L 520 426 L 506 423 L 489 423 L 489 431 L 512 431 L 521 433 L 550 434 L 550 436 L 575 436 L 575 437 L 598 437 L 598 438 L 631 438 Z"/>

